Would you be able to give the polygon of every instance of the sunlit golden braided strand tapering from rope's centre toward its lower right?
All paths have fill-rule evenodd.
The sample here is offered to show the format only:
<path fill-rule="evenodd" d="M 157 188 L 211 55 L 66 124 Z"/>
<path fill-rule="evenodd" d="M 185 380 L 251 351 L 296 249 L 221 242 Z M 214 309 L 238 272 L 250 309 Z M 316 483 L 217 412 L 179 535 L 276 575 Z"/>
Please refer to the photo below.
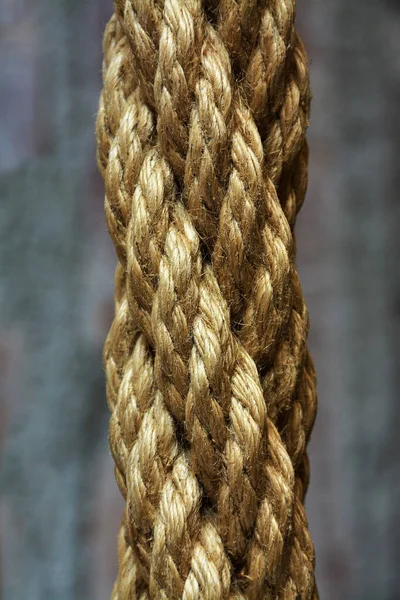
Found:
<path fill-rule="evenodd" d="M 281 453 L 276 455 L 271 452 L 266 466 L 266 440 L 269 437 L 271 441 L 276 432 L 265 415 L 256 367 L 231 333 L 227 306 L 210 269 L 203 282 L 200 315 L 194 330 L 187 429 L 192 464 L 207 496 L 218 507 L 226 546 L 233 558 L 240 560 L 255 526 L 257 510 L 262 515 L 263 525 L 269 522 L 271 526 L 262 528 L 256 546 L 270 543 L 272 532 L 278 541 L 281 540 L 292 493 L 290 483 L 282 480 L 282 472 L 287 473 L 290 482 L 292 465 L 281 449 Z M 230 421 L 231 431 L 226 430 L 225 419 Z M 276 445 L 279 446 L 279 442 Z M 265 480 L 273 493 L 264 499 Z M 271 510 L 272 495 L 282 505 L 286 503 L 281 510 L 280 521 Z M 276 512 L 279 514 L 279 511 Z M 264 539 L 266 531 L 269 540 Z M 253 545 L 249 547 L 251 557 Z M 261 552 L 261 556 L 265 563 L 270 561 L 272 565 L 271 553 L 264 556 Z M 260 564 L 254 565 L 250 559 L 249 573 L 260 568 Z M 263 568 L 266 569 L 266 564 Z M 250 593 L 250 589 L 248 591 Z"/>

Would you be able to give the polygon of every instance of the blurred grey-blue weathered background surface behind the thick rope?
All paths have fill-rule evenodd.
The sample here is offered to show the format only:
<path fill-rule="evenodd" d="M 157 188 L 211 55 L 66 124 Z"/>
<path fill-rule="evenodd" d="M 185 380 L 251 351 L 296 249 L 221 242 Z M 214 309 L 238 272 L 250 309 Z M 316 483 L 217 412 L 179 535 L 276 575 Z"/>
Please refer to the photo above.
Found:
<path fill-rule="evenodd" d="M 121 510 L 101 346 L 114 254 L 94 161 L 111 0 L 0 0 L 1 597 L 106 600 Z M 307 500 L 322 599 L 400 589 L 396 2 L 306 0 L 298 253 L 320 410 Z"/>

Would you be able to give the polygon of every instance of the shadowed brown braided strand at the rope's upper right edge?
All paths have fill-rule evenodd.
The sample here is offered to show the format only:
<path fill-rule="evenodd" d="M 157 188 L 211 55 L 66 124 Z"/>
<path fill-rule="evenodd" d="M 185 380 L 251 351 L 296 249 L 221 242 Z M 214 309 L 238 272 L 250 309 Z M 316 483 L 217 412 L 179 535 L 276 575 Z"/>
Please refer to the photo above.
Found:
<path fill-rule="evenodd" d="M 307 168 L 296 168 L 293 164 L 298 160 L 307 165 L 304 133 L 310 104 L 307 58 L 294 31 L 294 13 L 291 0 L 269 3 L 224 0 L 218 10 L 218 30 L 229 44 L 231 54 L 241 55 L 246 67 L 243 89 L 264 144 L 266 170 L 275 183 L 282 166 L 288 180 L 286 185 L 292 175 L 303 178 L 303 193 L 298 194 L 297 204 L 287 190 L 281 192 L 285 215 L 292 227 L 307 186 Z M 261 31 L 257 36 L 254 32 L 258 33 L 260 21 Z M 243 44 L 243 38 L 251 39 L 252 43 Z M 296 181 L 297 185 L 301 183 L 299 176 Z"/>

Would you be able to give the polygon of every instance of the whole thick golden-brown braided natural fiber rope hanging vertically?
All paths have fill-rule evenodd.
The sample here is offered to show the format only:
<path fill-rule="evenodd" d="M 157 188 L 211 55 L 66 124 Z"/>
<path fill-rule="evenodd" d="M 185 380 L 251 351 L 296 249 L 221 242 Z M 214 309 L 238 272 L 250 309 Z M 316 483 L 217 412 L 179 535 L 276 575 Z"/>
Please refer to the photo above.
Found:
<path fill-rule="evenodd" d="M 97 123 L 118 255 L 105 345 L 126 500 L 116 600 L 316 599 L 316 411 L 293 227 L 292 0 L 116 0 Z"/>

